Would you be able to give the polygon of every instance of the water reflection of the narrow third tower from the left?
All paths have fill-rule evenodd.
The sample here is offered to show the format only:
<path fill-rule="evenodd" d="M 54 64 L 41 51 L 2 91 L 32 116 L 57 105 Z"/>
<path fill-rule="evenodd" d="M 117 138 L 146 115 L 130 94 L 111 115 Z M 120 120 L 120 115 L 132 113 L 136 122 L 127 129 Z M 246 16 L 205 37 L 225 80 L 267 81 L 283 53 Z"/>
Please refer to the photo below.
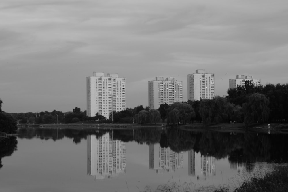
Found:
<path fill-rule="evenodd" d="M 188 151 L 188 175 L 197 176 L 197 179 L 216 175 L 215 157 L 204 156 L 191 149 Z"/>

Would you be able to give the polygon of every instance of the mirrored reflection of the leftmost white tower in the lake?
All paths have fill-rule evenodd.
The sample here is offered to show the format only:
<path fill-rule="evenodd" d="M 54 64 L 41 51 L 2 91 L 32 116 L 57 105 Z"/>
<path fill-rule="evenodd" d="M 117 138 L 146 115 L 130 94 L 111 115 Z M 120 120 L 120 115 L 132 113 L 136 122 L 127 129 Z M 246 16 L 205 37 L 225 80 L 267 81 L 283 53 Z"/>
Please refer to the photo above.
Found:
<path fill-rule="evenodd" d="M 94 180 L 118 176 L 126 172 L 126 144 L 113 140 L 109 133 L 96 138 L 87 136 L 87 175 Z"/>

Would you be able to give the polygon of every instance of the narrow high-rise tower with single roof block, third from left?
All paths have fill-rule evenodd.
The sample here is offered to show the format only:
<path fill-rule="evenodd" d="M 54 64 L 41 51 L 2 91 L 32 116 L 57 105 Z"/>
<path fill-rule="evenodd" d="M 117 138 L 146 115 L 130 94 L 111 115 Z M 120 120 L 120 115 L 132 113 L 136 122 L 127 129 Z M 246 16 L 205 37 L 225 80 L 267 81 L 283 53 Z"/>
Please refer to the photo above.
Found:
<path fill-rule="evenodd" d="M 214 98 L 214 82 L 214 73 L 205 73 L 205 70 L 202 69 L 187 75 L 188 100 Z"/>

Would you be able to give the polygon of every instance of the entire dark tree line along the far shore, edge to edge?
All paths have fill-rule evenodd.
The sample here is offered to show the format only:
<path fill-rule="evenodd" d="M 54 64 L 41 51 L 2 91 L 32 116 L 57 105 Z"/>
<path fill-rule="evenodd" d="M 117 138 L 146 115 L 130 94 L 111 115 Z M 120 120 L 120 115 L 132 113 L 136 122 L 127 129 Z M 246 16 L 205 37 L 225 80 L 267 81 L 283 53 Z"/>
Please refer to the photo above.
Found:
<path fill-rule="evenodd" d="M 139 124 L 142 126 L 166 125 L 183 127 L 202 127 L 223 125 L 222 127 L 258 127 L 272 125 L 285 128 L 288 120 L 288 84 L 266 84 L 254 87 L 250 81 L 237 88 L 228 89 L 226 96 L 215 96 L 213 99 L 202 99 L 174 104 L 161 104 L 158 109 L 149 109 L 139 105 L 123 111 L 113 111 L 109 118 L 96 113 L 87 117 L 86 111 L 75 107 L 73 111 L 39 113 L 5 113 L 1 110 L 0 100 L 0 131 L 14 132 L 19 126 L 26 124 Z M 244 126 L 242 126 L 244 123 Z M 228 125 L 227 125 L 228 124 Z M 231 125 L 230 125 L 231 124 Z M 239 126 L 241 125 L 241 126 Z M 221 126 L 220 126 L 221 127 Z M 272 128 L 273 126 L 271 126 Z M 274 126 L 275 128 L 275 126 Z M 11 131 L 9 131 L 11 130 Z"/>

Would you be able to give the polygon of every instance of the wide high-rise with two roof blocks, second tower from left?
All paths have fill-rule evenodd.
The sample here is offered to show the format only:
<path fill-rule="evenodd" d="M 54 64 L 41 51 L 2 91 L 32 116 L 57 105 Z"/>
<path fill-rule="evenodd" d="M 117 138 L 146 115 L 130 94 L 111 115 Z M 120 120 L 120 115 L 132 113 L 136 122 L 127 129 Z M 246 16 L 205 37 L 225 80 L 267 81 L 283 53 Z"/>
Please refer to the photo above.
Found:
<path fill-rule="evenodd" d="M 174 77 L 164 80 L 164 77 L 156 77 L 148 81 L 148 106 L 150 109 L 158 109 L 160 104 L 173 104 L 183 101 L 182 81 L 176 81 Z"/>

